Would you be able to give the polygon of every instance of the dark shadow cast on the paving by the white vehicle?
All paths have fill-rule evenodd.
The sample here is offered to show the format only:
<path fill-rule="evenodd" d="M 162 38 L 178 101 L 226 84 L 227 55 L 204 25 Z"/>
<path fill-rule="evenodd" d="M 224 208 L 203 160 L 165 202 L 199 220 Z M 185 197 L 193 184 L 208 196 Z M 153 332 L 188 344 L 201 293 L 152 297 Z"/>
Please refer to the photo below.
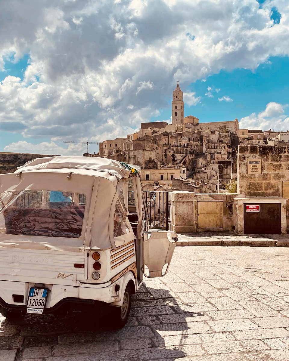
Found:
<path fill-rule="evenodd" d="M 20 348 L 17 360 L 22 359 L 23 348 L 39 346 L 54 347 L 55 356 L 72 354 L 72 361 L 77 360 L 77 354 L 85 354 L 87 361 L 105 357 L 111 361 L 177 360 L 187 355 L 183 348 L 190 327 L 185 317 L 198 316 L 203 313 L 184 312 L 169 290 L 143 284 L 134 295 L 128 323 L 120 330 L 112 330 L 108 317 L 99 317 L 97 309 L 94 315 L 73 312 L 64 318 L 48 314 L 17 321 L 0 318 L 1 333 L 6 336 L 0 338 L 0 349 Z"/>

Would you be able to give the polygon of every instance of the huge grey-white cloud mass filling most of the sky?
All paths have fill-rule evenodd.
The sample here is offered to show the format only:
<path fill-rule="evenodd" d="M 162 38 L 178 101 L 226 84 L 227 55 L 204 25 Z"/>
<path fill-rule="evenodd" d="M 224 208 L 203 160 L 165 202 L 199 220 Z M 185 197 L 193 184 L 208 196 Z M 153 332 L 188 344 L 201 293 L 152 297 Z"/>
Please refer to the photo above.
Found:
<path fill-rule="evenodd" d="M 23 81 L 0 85 L 1 122 L 39 143 L 126 136 L 168 107 L 177 79 L 185 91 L 221 69 L 289 55 L 288 13 L 287 0 L 1 1 L 0 68 L 30 56 Z"/>

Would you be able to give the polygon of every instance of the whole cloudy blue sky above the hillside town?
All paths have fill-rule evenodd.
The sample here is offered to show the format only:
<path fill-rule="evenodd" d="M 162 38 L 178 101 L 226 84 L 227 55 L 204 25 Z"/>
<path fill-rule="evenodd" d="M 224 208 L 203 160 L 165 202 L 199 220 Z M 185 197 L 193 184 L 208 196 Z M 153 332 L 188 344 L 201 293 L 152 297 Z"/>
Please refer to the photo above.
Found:
<path fill-rule="evenodd" d="M 185 116 L 289 129 L 288 0 L 14 0 L 0 31 L 0 151 L 81 155 L 60 141 L 170 121 L 177 79 Z"/>

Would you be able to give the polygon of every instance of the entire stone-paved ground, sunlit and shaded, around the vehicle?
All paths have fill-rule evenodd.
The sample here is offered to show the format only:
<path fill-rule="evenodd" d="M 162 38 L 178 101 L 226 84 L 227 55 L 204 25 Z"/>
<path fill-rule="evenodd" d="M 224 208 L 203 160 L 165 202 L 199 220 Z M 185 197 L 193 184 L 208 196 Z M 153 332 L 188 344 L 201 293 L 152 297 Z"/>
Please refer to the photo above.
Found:
<path fill-rule="evenodd" d="M 177 247 L 134 295 L 129 322 L 0 319 L 0 360 L 289 360 L 289 248 Z"/>

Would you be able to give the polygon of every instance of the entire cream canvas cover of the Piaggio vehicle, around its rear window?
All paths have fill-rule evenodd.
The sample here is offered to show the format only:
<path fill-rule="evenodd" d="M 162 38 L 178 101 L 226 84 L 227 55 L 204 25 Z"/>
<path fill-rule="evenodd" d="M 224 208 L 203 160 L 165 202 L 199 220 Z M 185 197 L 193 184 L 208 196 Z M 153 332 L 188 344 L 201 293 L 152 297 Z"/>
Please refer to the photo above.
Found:
<path fill-rule="evenodd" d="M 131 167 L 139 172 L 139 167 Z M 107 158 L 46 157 L 27 162 L 14 173 L 0 175 L 0 193 L 23 190 L 53 190 L 86 195 L 83 231 L 79 238 L 70 239 L 61 238 L 61 236 L 30 236 L 27 238 L 25 234 L 15 236 L 14 234 L 1 233 L 1 244 L 5 247 L 11 247 L 14 244 L 18 248 L 41 248 L 45 245 L 48 249 L 76 249 L 78 251 L 79 247 L 83 246 L 90 249 L 116 248 L 124 242 L 133 240 L 134 233 L 125 213 L 123 219 L 126 221 L 128 232 L 114 235 L 116 204 L 121 190 L 126 211 L 128 209 L 127 184 L 130 174 L 131 169 L 126 169 L 125 165 L 121 165 L 120 162 Z M 134 176 L 133 181 L 138 193 L 135 198 L 136 202 L 139 200 L 137 213 L 141 225 L 143 213 L 140 203 L 142 199 L 141 182 L 138 176 Z M 138 187 L 136 181 L 139 183 Z M 34 207 L 35 209 L 39 208 L 38 205 Z M 46 204 L 44 209 L 46 209 Z M 38 242 L 32 242 L 33 237 L 37 237 Z"/>

